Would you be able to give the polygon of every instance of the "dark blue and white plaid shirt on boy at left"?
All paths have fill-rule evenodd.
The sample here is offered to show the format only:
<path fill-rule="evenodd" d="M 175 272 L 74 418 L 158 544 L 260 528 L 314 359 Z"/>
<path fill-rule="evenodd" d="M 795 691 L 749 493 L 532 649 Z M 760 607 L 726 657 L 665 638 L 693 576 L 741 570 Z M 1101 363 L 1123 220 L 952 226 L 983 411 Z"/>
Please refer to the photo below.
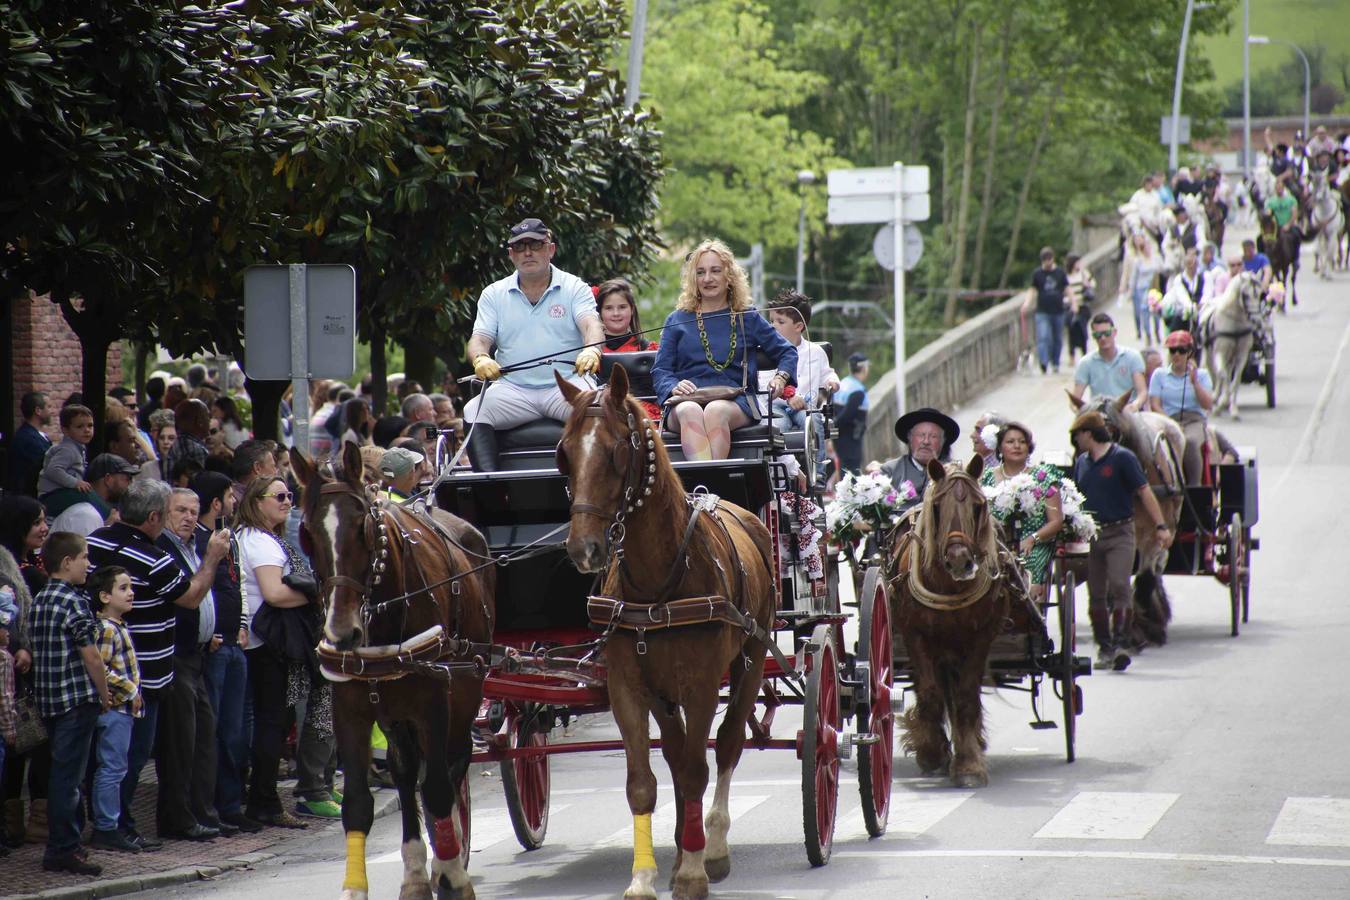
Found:
<path fill-rule="evenodd" d="M 80 648 L 92 645 L 99 626 L 89 602 L 73 584 L 51 579 L 32 598 L 28 613 L 34 688 L 43 718 L 62 715 L 81 703 L 97 703 L 99 691 L 85 671 Z"/>

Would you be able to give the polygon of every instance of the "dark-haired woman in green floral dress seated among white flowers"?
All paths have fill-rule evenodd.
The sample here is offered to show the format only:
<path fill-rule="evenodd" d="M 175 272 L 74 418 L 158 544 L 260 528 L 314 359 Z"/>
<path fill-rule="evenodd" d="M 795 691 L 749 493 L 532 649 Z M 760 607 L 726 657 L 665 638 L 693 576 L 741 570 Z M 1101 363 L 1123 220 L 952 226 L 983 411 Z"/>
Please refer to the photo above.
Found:
<path fill-rule="evenodd" d="M 1035 443 L 1031 429 L 1021 422 L 1003 425 L 994 447 L 999 464 L 986 470 L 980 484 L 994 518 L 1003 525 L 1017 518 L 1018 557 L 1031 582 L 1031 596 L 1041 602 L 1050 580 L 1054 540 L 1064 525 L 1060 474 L 1045 464 L 1027 464 Z"/>

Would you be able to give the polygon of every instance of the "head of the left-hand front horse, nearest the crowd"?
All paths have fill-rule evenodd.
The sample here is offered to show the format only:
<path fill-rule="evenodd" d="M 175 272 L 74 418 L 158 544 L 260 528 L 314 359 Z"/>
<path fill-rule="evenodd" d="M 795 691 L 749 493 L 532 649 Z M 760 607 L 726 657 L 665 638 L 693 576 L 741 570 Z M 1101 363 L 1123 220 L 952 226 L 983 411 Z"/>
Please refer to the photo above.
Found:
<path fill-rule="evenodd" d="M 339 650 L 350 650 L 369 637 L 362 607 L 386 565 L 389 546 L 387 537 L 381 545 L 381 518 L 362 480 L 360 451 L 344 443 L 338 478 L 321 472 L 296 448 L 290 467 L 304 484 L 300 536 L 321 583 L 324 637 Z"/>

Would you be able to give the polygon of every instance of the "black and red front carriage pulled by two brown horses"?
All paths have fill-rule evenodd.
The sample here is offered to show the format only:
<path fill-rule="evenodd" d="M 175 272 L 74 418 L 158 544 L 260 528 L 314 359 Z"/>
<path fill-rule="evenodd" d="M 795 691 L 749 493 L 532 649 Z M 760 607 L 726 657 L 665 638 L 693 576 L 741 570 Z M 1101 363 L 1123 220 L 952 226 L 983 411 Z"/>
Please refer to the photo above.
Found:
<path fill-rule="evenodd" d="M 651 351 L 608 354 L 601 381 L 622 363 L 630 395 L 649 399 L 653 360 Z M 826 416 L 826 433 L 828 410 L 825 403 L 818 413 Z M 563 548 L 571 499 L 555 463 L 560 433 L 562 425 L 552 421 L 498 432 L 498 471 L 447 467 L 433 488 L 440 509 L 477 526 L 491 556 L 509 560 L 497 573 L 493 631 L 493 644 L 505 652 L 494 654 L 486 675 L 473 760 L 500 764 L 510 820 L 526 850 L 541 846 L 548 830 L 551 757 L 624 746 L 617 739 L 551 739 L 555 725 L 603 712 L 610 704 L 602 636 L 587 617 L 587 596 L 595 586 Z M 840 600 L 837 561 L 825 555 L 824 578 L 807 576 L 796 540 L 806 524 L 790 499 L 791 484 L 779 461 L 784 453 L 796 456 L 814 484 L 811 429 L 780 433 L 761 420 L 733 432 L 730 459 L 716 461 L 683 460 L 678 437 L 664 433 L 662 439 L 687 491 L 760 510 L 774 538 L 778 603 L 772 634 L 774 644 L 783 646 L 771 648 L 747 748 L 795 752 L 806 854 L 811 865 L 825 865 L 840 762 L 855 753 L 867 830 L 873 837 L 886 831 L 894 714 L 884 584 L 875 569 L 868 573 L 869 590 L 857 598 L 859 637 L 848 642 L 844 625 L 850 613 Z M 441 448 L 437 456 L 444 461 L 448 455 Z M 824 532 L 824 514 L 811 525 Z M 802 727 L 795 735 L 775 737 L 775 712 L 784 704 L 802 706 Z"/>

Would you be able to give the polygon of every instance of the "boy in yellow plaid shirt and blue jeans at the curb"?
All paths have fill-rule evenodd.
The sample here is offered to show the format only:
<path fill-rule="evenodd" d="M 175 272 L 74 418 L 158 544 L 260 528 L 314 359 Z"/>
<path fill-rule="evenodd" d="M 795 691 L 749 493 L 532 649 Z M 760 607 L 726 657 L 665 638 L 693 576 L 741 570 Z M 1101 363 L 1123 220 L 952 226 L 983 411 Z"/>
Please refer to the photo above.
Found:
<path fill-rule="evenodd" d="M 120 565 L 104 565 L 85 582 L 85 592 L 99 611 L 99 656 L 108 669 L 109 696 L 109 707 L 99 715 L 94 729 L 99 768 L 93 775 L 93 835 L 89 846 L 140 853 L 140 845 L 117 830 L 131 722 L 140 718 L 142 706 L 140 667 L 131 646 L 131 633 L 122 621 L 135 599 L 131 573 Z"/>

